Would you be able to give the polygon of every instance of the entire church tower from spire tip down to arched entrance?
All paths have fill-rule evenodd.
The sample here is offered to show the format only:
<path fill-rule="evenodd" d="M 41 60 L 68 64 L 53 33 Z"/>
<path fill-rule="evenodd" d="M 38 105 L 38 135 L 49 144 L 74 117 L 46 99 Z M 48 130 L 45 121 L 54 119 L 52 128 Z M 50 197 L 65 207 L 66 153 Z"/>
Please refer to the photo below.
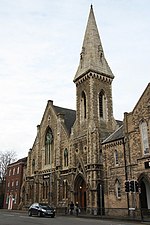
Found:
<path fill-rule="evenodd" d="M 101 142 L 114 131 L 112 80 L 91 5 L 76 84 L 76 121 L 72 129 L 75 201 L 82 208 L 100 207 L 103 187 Z M 80 193 L 80 194 L 79 194 Z M 79 197 L 80 195 L 80 197 Z M 102 203 L 104 201 L 102 200 Z"/>

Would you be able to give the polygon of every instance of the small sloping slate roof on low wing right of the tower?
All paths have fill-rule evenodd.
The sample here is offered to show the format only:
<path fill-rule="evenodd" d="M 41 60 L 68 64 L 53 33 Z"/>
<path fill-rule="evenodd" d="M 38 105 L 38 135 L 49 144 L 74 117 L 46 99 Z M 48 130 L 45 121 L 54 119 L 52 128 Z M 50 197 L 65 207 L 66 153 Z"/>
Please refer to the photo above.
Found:
<path fill-rule="evenodd" d="M 108 142 L 112 142 L 124 137 L 124 127 L 121 125 L 114 133 L 112 133 L 109 137 L 107 137 L 102 144 L 106 144 Z"/>

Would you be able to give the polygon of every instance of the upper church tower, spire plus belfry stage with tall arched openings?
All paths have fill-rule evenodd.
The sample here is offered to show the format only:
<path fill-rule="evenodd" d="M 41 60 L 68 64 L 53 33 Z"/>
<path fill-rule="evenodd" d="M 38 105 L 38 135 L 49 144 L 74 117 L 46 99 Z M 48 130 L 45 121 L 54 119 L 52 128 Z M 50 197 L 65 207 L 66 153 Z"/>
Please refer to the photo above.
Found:
<path fill-rule="evenodd" d="M 76 122 L 79 133 L 83 128 L 89 127 L 98 128 L 104 133 L 112 131 L 114 118 L 111 83 L 113 78 L 114 75 L 105 59 L 91 6 L 80 63 L 74 77 L 77 98 Z"/>

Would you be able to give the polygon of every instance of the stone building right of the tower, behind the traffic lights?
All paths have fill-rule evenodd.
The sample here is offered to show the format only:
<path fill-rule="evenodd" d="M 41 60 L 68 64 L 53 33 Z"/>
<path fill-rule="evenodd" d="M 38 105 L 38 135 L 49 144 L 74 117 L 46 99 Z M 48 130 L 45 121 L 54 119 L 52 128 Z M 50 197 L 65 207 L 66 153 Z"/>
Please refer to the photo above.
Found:
<path fill-rule="evenodd" d="M 102 142 L 107 214 L 150 211 L 150 83 L 123 124 Z M 115 210 L 116 209 L 116 210 Z M 128 212 L 129 210 L 129 212 Z"/>

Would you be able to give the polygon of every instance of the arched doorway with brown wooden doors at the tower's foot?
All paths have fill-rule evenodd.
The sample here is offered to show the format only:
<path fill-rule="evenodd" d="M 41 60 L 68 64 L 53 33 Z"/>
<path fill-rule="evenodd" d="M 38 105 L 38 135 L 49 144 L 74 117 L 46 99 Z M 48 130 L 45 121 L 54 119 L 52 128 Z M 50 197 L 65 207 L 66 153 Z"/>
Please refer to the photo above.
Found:
<path fill-rule="evenodd" d="M 79 203 L 79 207 L 86 210 L 86 183 L 81 175 L 78 175 L 75 179 L 75 203 Z"/>

